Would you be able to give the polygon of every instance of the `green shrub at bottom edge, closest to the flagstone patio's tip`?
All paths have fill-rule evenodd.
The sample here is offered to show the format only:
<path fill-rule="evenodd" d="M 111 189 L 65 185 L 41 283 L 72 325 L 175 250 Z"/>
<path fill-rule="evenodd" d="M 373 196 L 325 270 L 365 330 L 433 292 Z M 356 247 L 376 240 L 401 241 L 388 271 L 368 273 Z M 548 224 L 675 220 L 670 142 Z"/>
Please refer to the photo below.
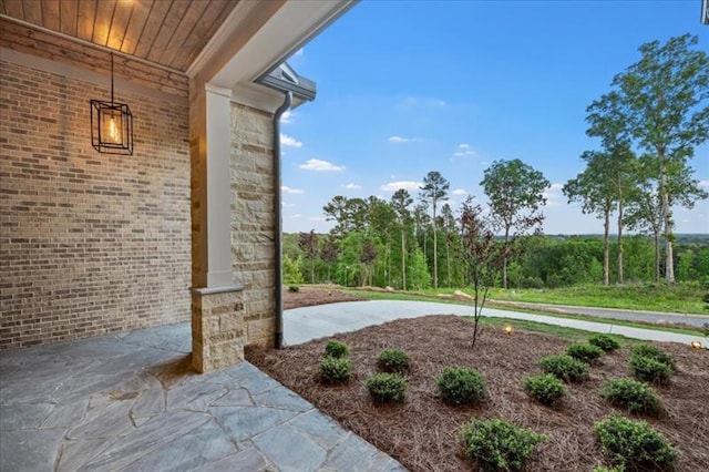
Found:
<path fill-rule="evenodd" d="M 463 424 L 459 432 L 459 442 L 465 456 L 477 461 L 486 471 L 518 471 L 540 442 L 546 440 L 525 428 L 518 428 L 504 420 L 473 419 Z"/>

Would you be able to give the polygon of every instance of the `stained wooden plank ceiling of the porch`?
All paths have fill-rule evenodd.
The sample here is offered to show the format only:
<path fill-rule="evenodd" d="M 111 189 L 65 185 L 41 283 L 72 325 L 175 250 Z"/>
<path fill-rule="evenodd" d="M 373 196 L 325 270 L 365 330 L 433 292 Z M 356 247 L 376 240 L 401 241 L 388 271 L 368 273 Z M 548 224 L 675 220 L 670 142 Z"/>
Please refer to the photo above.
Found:
<path fill-rule="evenodd" d="M 0 13 L 185 72 L 239 0 L 0 0 Z"/>

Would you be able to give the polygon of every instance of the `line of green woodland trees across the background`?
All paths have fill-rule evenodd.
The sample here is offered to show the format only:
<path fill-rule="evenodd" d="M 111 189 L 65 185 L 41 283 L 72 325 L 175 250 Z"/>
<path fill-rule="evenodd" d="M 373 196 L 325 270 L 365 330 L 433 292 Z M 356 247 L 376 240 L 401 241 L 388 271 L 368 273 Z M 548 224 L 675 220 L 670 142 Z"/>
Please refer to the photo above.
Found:
<path fill-rule="evenodd" d="M 501 160 L 480 182 L 486 208 L 469 197 L 454 211 L 438 171 L 417 195 L 400 188 L 389 201 L 335 196 L 322 208 L 333 222 L 328 235 L 300 233 L 297 244 L 286 237 L 286 283 L 421 289 L 608 285 L 662 275 L 670 284 L 709 281 L 709 248 L 675 247 L 671 214 L 709 196 L 690 166 L 709 138 L 709 58 L 692 49 L 697 42 L 685 34 L 641 45 L 640 61 L 587 109 L 587 134 L 599 148 L 582 154 L 585 170 L 563 192 L 603 220 L 602 239 L 541 237 L 549 182 L 518 158 Z"/>

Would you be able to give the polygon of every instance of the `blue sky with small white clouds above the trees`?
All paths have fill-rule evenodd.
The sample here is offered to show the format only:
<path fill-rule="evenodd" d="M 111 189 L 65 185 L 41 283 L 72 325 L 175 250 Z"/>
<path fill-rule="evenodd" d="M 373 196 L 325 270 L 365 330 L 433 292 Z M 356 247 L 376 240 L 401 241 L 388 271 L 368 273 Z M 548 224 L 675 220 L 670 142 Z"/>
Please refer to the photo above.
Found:
<path fill-rule="evenodd" d="M 689 32 L 709 51 L 700 0 L 363 1 L 289 63 L 318 96 L 281 126 L 284 230 L 327 232 L 333 196 L 418 195 L 429 171 L 458 211 L 482 204 L 483 171 L 520 158 L 552 187 L 546 234 L 602 233 L 561 186 L 582 172 L 586 107 L 639 59 L 638 47 Z M 709 191 L 709 144 L 696 178 Z M 709 202 L 675 209 L 678 233 L 709 233 Z"/>

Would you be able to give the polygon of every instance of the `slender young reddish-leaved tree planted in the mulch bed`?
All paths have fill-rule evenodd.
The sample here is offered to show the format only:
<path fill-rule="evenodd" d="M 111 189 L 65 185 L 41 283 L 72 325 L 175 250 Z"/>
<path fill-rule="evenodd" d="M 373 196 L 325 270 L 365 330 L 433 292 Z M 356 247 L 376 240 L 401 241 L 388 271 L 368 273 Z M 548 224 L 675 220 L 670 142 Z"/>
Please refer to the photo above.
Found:
<path fill-rule="evenodd" d="M 470 280 L 473 285 L 473 342 L 477 339 L 477 324 L 482 316 L 487 293 L 495 280 L 496 244 L 492 228 L 483 217 L 483 208 L 474 204 L 473 197 L 463 203 L 460 228 L 463 258 L 466 261 Z"/>

